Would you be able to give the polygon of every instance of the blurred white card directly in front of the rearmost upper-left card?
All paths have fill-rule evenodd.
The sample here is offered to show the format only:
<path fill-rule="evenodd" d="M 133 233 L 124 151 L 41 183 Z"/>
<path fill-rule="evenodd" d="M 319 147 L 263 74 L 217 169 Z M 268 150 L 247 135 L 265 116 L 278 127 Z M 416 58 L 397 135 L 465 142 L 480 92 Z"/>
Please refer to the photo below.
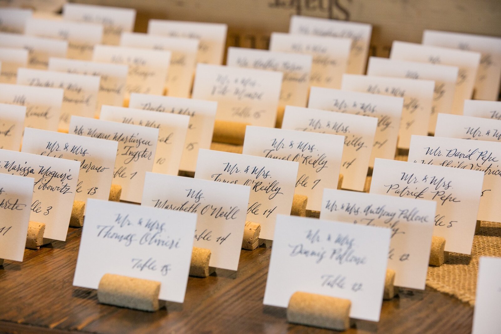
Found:
<path fill-rule="evenodd" d="M 68 58 L 91 60 L 94 46 L 103 40 L 103 26 L 91 23 L 29 19 L 26 35 L 68 41 Z"/>

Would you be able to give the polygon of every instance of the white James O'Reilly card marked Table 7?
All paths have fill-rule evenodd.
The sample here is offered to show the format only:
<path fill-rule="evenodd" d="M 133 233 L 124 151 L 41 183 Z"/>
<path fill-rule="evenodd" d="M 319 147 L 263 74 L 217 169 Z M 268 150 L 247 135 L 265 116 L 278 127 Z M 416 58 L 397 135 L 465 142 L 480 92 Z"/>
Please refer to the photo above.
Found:
<path fill-rule="evenodd" d="M 299 162 L 295 194 L 308 197 L 308 210 L 320 211 L 324 188 L 338 186 L 344 140 L 333 134 L 247 126 L 242 154 Z"/>

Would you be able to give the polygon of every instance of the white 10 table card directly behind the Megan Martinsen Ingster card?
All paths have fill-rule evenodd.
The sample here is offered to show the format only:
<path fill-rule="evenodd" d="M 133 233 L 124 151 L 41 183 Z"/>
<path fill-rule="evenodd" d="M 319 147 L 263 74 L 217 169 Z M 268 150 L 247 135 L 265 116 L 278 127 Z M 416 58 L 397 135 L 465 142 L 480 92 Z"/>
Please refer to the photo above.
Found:
<path fill-rule="evenodd" d="M 134 108 L 103 106 L 99 118 L 105 121 L 158 129 L 158 143 L 152 171 L 154 173 L 177 175 L 188 130 L 188 116 Z"/>

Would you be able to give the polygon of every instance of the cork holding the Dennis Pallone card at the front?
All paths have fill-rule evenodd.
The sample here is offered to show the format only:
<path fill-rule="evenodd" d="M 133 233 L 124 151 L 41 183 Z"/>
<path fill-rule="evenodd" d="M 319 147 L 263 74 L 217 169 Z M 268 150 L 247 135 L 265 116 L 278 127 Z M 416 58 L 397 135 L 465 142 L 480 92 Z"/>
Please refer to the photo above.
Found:
<path fill-rule="evenodd" d="M 295 292 L 289 299 L 287 321 L 334 330 L 350 327 L 351 301 L 308 292 Z"/>

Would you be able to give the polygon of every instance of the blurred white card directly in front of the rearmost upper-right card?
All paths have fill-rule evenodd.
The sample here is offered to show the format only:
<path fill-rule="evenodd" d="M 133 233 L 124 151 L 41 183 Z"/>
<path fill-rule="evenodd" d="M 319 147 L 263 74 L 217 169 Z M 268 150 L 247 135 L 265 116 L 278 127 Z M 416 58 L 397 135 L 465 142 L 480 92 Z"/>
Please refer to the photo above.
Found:
<path fill-rule="evenodd" d="M 454 101 L 452 102 L 452 110 L 457 114 L 461 114 L 463 110 L 463 101 L 472 97 L 476 73 L 480 63 L 480 54 L 478 52 L 394 41 L 390 58 L 457 66 L 459 72 L 454 91 Z"/>

